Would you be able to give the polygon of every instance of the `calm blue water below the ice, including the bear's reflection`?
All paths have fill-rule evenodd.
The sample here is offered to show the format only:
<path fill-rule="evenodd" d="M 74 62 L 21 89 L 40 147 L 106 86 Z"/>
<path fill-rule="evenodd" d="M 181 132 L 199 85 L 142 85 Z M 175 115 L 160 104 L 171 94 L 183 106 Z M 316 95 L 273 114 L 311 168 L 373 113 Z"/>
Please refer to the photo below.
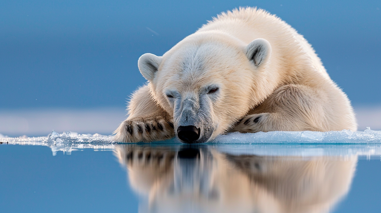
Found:
<path fill-rule="evenodd" d="M 381 211 L 380 145 L 271 146 L 2 144 L 1 212 Z"/>

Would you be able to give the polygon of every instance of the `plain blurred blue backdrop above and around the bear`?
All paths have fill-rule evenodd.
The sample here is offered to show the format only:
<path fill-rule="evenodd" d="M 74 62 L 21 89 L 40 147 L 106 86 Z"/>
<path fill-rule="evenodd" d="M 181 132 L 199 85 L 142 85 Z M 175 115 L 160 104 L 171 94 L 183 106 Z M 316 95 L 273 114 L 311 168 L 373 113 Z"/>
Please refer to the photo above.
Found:
<path fill-rule="evenodd" d="M 379 0 L 3 0 L 0 110 L 123 107 L 145 82 L 139 56 L 162 55 L 211 17 L 239 6 L 277 14 L 304 35 L 354 105 L 381 103 Z"/>

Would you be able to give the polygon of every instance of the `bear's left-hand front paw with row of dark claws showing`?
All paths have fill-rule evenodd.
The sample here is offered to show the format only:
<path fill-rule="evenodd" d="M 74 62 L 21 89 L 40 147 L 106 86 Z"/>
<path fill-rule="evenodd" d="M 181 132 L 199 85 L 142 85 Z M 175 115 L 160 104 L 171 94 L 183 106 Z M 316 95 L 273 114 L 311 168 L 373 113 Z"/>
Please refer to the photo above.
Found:
<path fill-rule="evenodd" d="M 164 118 L 127 119 L 114 134 L 116 141 L 125 143 L 166 140 L 174 137 L 173 122 Z"/>

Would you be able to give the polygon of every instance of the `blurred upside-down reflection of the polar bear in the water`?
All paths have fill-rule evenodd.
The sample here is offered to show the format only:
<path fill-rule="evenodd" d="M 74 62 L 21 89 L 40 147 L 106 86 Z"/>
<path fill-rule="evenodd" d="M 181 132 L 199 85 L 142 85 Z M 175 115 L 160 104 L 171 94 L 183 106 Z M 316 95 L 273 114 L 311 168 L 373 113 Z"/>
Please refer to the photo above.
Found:
<path fill-rule="evenodd" d="M 356 156 L 231 155 L 208 146 L 123 145 L 115 151 L 140 212 L 330 212 L 346 195 Z"/>

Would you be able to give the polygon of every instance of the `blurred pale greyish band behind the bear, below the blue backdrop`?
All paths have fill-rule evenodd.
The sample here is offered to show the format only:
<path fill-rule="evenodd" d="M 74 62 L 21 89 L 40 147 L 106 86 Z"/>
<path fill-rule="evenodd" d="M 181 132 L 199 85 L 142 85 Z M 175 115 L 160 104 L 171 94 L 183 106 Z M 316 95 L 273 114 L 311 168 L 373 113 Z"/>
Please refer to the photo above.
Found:
<path fill-rule="evenodd" d="M 381 106 L 355 107 L 358 130 L 381 130 Z M 45 136 L 52 130 L 79 134 L 110 135 L 126 118 L 125 108 L 0 109 L 0 134 L 9 137 Z"/>

